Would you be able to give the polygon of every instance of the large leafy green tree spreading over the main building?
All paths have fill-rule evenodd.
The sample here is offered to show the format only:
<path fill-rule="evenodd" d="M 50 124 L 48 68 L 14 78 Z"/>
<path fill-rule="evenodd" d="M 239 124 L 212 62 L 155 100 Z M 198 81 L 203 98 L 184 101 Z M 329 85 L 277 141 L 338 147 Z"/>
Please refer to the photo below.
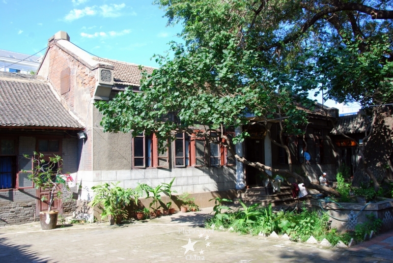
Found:
<path fill-rule="evenodd" d="M 173 138 L 177 132 L 191 135 L 191 128 L 202 123 L 205 129 L 195 136 L 224 145 L 246 165 L 262 173 L 271 170 L 294 176 L 306 187 L 338 195 L 332 189 L 311 184 L 293 171 L 282 135 L 304 132 L 300 127 L 307 124 L 308 116 L 302 109 L 313 109 L 313 102 L 307 98 L 311 89 L 324 90 L 327 97 L 338 102 L 363 99 L 365 92 L 378 93 L 368 86 L 354 87 L 350 78 L 344 78 L 346 82 L 341 87 L 344 91 L 340 90 L 346 75 L 340 63 L 352 62 L 353 57 L 363 62 L 348 66 L 349 74 L 364 72 L 368 61 L 377 59 L 384 72 L 369 67 L 364 72 L 368 77 L 359 75 L 360 82 L 374 81 L 372 87 L 379 88 L 381 94 L 391 91 L 389 43 L 393 34 L 388 19 L 393 17 L 393 11 L 385 9 L 392 6 L 392 1 L 156 0 L 155 3 L 165 9 L 168 25 L 182 23 L 181 36 L 186 45 L 172 43 L 173 58 L 155 57 L 160 68 L 151 75 L 144 74 L 142 92 L 128 89 L 109 103 L 96 104 L 104 114 L 104 129 L 156 131 L 160 138 Z M 377 49 L 382 58 L 374 54 L 375 43 L 380 45 Z M 337 60 L 328 61 L 329 56 L 337 56 Z M 373 75 L 376 71 L 379 76 Z M 385 88 L 380 87 L 381 81 L 386 83 Z M 359 93 L 353 92 L 360 87 Z M 382 101 L 392 98 L 392 92 L 383 94 L 378 97 L 387 96 Z M 377 102 L 374 97 L 365 98 L 365 103 Z M 169 120 L 168 114 L 175 119 Z M 265 127 L 272 119 L 279 120 L 280 139 L 273 143 L 286 150 L 288 169 L 275 170 L 236 155 L 233 144 L 244 140 L 247 131 L 235 138 L 228 138 L 221 131 L 223 127 L 249 123 L 248 115 L 254 116 L 257 125 Z"/>

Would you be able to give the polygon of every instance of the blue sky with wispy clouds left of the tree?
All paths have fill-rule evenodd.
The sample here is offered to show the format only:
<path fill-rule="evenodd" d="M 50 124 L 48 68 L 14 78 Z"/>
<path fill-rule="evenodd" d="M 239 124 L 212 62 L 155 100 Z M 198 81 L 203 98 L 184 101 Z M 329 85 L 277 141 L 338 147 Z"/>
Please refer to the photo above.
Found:
<path fill-rule="evenodd" d="M 157 66 L 181 26 L 166 27 L 152 0 L 0 0 L 0 49 L 32 55 L 57 31 L 101 58 Z M 42 51 L 38 55 L 43 55 Z"/>

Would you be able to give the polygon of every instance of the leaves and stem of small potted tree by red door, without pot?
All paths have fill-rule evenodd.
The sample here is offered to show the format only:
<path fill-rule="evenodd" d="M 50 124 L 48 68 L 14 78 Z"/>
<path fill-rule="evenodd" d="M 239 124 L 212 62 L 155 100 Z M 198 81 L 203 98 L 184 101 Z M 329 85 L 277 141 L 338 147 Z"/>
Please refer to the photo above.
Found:
<path fill-rule="evenodd" d="M 67 182 L 73 181 L 71 175 L 61 173 L 61 165 L 63 159 L 60 156 L 54 154 L 54 157 L 45 158 L 44 154 L 33 152 L 33 156 L 27 154 L 23 155 L 27 159 L 31 159 L 34 168 L 32 172 L 22 170 L 23 173 L 28 175 L 36 189 L 47 188 L 50 189 L 50 200 L 42 197 L 41 202 L 48 201 L 48 210 L 52 208 L 52 204 L 56 199 L 62 198 L 61 188 L 59 184 L 62 184 L 67 190 L 69 186 Z M 49 161 L 48 161 L 49 160 Z M 56 196 L 54 195 L 57 191 Z"/>

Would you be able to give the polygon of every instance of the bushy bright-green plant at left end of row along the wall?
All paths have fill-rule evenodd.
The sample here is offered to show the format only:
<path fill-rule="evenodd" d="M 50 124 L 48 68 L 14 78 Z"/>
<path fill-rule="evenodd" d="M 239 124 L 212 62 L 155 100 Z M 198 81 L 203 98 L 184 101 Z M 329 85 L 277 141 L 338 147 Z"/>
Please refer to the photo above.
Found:
<path fill-rule="evenodd" d="M 117 186 L 119 183 L 103 183 L 91 187 L 94 198 L 89 205 L 99 205 L 98 207 L 102 209 L 101 217 L 109 217 L 111 225 L 121 223 L 127 213 L 126 206 L 130 205 L 134 194 L 132 189 Z"/>

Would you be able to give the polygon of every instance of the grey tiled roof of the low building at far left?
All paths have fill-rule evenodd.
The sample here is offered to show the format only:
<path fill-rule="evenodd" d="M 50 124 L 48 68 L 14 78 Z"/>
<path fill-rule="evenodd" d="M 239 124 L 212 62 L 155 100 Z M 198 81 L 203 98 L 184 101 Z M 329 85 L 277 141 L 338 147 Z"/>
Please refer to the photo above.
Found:
<path fill-rule="evenodd" d="M 84 128 L 48 85 L 0 79 L 1 126 Z"/>

